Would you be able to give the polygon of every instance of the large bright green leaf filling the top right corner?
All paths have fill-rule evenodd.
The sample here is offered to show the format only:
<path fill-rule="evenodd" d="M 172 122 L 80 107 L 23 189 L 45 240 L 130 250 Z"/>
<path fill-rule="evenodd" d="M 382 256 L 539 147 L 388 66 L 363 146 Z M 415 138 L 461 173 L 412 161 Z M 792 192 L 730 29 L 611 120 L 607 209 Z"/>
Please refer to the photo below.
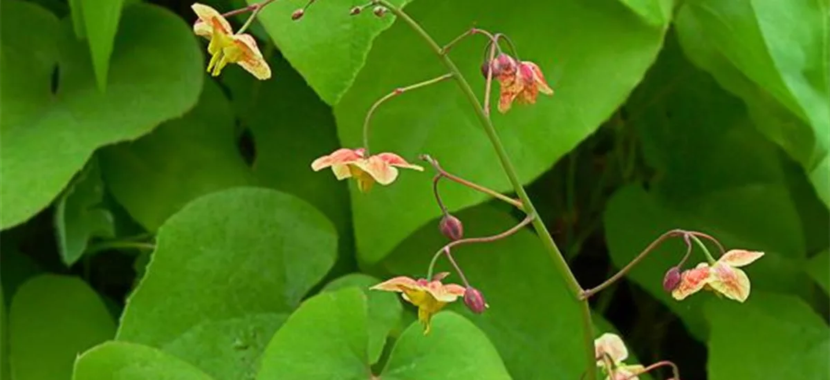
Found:
<path fill-rule="evenodd" d="M 686 54 L 743 98 L 759 129 L 813 178 L 830 206 L 830 4 L 684 2 Z"/>

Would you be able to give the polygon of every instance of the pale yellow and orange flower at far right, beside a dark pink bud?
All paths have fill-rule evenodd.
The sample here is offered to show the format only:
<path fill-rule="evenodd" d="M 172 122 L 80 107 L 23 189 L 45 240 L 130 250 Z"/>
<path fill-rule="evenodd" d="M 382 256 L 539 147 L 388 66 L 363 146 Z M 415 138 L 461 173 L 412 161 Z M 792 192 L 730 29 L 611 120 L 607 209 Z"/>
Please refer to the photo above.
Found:
<path fill-rule="evenodd" d="M 764 256 L 764 252 L 731 250 L 720 256 L 714 265 L 698 264 L 694 269 L 681 274 L 680 284 L 671 291 L 675 300 L 683 300 L 701 289 L 712 290 L 721 295 L 744 302 L 749 297 L 749 277 L 740 266 L 748 266 Z"/>

